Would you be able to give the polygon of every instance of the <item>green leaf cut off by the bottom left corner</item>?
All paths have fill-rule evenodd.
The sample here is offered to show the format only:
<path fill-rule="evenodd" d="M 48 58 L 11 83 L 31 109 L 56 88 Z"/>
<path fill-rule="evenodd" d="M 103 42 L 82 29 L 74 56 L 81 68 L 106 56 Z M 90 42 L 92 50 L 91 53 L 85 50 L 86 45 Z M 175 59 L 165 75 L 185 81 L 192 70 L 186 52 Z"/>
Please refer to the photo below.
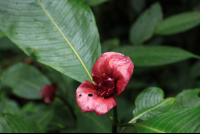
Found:
<path fill-rule="evenodd" d="M 0 114 L 0 128 L 0 133 L 44 133 L 35 122 L 9 114 Z"/>

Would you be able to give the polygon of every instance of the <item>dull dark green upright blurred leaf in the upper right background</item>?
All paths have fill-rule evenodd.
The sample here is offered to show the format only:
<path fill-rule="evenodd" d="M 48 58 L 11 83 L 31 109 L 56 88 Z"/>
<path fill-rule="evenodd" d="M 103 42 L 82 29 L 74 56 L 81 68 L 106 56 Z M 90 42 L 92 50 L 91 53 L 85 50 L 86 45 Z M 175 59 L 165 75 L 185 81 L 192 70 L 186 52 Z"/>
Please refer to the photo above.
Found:
<path fill-rule="evenodd" d="M 142 44 L 153 35 L 156 24 L 162 20 L 163 15 L 159 3 L 146 9 L 130 29 L 130 41 L 133 44 Z"/>

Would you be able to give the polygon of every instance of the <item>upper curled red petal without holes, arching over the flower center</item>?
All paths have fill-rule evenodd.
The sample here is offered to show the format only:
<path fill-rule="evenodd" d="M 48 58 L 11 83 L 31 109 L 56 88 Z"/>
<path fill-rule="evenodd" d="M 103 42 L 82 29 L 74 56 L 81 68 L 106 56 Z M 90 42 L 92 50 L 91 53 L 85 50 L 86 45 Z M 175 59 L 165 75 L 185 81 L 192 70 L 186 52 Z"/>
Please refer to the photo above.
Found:
<path fill-rule="evenodd" d="M 103 53 L 95 62 L 92 69 L 92 77 L 99 76 L 103 78 L 103 74 L 113 78 L 116 83 L 117 95 L 120 95 L 129 83 L 133 73 L 133 62 L 129 57 L 121 53 L 106 52 Z M 93 79 L 97 84 L 97 79 Z"/>

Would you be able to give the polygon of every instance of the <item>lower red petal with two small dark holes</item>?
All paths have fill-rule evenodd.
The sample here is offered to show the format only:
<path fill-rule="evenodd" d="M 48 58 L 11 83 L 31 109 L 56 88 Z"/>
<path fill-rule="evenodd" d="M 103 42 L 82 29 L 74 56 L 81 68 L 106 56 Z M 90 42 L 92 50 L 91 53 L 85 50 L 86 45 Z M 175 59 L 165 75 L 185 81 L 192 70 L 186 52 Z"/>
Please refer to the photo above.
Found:
<path fill-rule="evenodd" d="M 97 96 L 95 85 L 89 81 L 84 81 L 76 90 L 76 102 L 82 112 L 93 112 L 97 115 L 107 113 L 117 105 L 115 97 L 107 99 Z"/>

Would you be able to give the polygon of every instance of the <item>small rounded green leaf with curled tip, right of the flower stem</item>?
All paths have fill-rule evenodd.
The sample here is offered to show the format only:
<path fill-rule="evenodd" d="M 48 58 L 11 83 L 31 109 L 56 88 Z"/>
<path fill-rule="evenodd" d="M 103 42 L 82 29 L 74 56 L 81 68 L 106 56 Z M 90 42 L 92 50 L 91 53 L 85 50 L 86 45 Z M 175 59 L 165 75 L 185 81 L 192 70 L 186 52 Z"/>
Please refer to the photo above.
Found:
<path fill-rule="evenodd" d="M 134 118 L 147 120 L 162 113 L 171 111 L 174 106 L 174 98 L 163 99 L 164 92 L 157 87 L 150 87 L 138 95 L 135 100 L 135 109 L 133 110 Z"/>

